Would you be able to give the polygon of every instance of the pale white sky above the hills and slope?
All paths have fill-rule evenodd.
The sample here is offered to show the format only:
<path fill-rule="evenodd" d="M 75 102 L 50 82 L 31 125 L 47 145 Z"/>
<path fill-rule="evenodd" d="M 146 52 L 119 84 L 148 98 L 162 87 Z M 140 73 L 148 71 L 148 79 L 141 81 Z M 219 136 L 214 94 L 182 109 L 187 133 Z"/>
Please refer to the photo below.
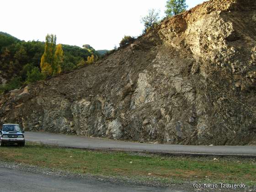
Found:
<path fill-rule="evenodd" d="M 188 9 L 205 0 L 187 0 Z M 164 16 L 166 0 L 1 0 L 0 31 L 21 40 L 90 44 L 96 50 L 112 49 L 124 35 L 139 36 L 140 22 L 151 8 Z"/>

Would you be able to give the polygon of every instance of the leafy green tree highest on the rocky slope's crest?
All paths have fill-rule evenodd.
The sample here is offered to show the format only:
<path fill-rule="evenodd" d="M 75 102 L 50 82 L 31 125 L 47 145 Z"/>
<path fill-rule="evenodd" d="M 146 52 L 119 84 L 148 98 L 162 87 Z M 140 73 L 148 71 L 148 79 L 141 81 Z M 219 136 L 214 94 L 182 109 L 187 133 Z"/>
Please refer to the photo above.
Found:
<path fill-rule="evenodd" d="M 186 0 L 167 0 L 165 13 L 167 16 L 176 16 L 187 9 Z"/>

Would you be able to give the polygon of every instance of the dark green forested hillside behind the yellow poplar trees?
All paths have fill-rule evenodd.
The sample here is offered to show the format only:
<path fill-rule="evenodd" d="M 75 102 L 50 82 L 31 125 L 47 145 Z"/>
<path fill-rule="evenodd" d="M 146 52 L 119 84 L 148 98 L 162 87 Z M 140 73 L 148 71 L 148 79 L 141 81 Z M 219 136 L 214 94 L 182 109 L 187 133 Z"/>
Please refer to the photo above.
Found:
<path fill-rule="evenodd" d="M 62 45 L 61 72 L 67 72 L 87 63 L 91 55 L 100 55 L 90 45 L 83 48 Z M 8 33 L 0 32 L 0 93 L 19 88 L 24 83 L 43 79 L 40 62 L 45 42 L 21 41 Z"/>

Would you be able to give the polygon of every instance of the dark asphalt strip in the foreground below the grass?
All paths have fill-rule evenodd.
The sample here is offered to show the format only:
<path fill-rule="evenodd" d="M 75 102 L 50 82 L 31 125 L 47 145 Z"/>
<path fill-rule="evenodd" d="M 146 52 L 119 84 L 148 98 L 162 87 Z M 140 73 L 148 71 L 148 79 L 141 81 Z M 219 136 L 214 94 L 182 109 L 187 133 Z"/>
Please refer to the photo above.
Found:
<path fill-rule="evenodd" d="M 1 168 L 0 192 L 181 192 L 168 188 L 128 186 Z"/>

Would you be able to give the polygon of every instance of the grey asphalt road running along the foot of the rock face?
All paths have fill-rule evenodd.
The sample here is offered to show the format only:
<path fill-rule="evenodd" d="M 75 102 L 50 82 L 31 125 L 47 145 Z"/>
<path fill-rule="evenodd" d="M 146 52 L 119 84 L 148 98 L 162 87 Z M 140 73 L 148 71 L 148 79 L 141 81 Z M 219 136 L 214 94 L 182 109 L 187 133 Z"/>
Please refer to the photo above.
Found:
<path fill-rule="evenodd" d="M 41 142 L 45 144 L 57 144 L 62 147 L 82 149 L 107 149 L 169 154 L 233 155 L 256 157 L 256 146 L 192 146 L 148 144 L 45 132 L 25 132 L 25 139 L 27 141 Z"/>

